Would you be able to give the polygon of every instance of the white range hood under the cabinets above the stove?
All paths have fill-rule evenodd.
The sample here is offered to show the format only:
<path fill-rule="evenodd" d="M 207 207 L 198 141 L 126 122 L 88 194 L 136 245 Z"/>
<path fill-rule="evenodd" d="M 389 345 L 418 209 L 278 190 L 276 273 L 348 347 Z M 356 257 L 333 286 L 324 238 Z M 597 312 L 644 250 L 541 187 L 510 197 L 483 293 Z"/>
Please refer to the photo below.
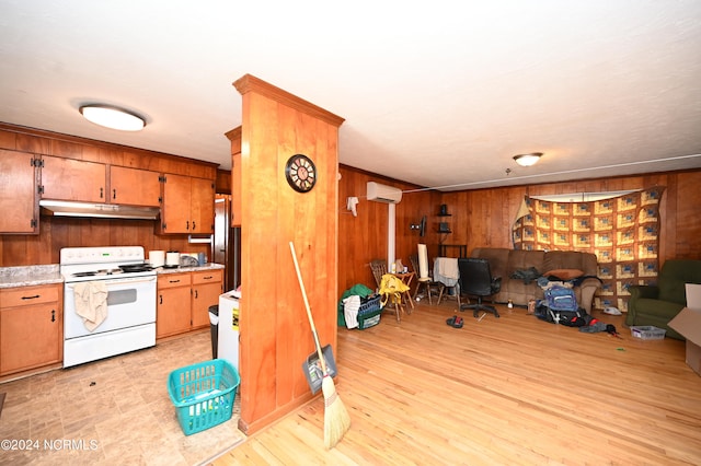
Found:
<path fill-rule="evenodd" d="M 114 203 L 74 202 L 66 200 L 39 200 L 42 213 L 54 217 L 88 217 L 99 219 L 156 220 L 158 207 L 119 206 Z"/>

